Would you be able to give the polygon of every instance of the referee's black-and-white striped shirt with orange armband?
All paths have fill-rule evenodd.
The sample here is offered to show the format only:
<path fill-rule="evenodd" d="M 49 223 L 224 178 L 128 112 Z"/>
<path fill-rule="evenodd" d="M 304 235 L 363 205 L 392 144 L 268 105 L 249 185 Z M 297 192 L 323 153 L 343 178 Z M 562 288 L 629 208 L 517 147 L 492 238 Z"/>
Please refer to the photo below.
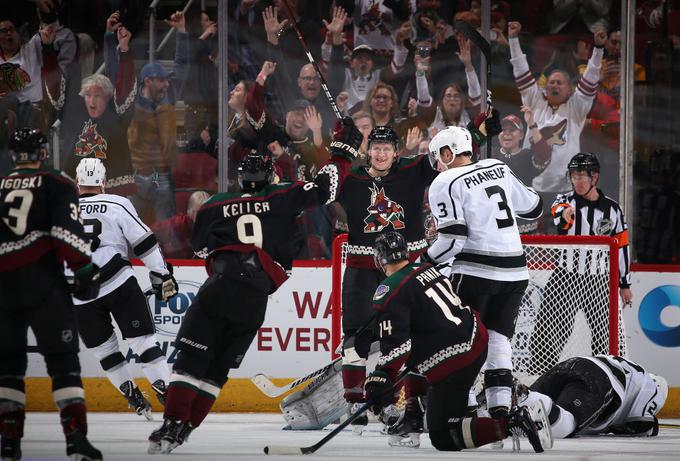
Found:
<path fill-rule="evenodd" d="M 628 245 L 628 225 L 623 211 L 610 197 L 597 189 L 598 199 L 589 201 L 576 195 L 574 191 L 559 194 L 552 205 L 552 216 L 560 235 L 606 235 L 614 237 L 619 245 L 619 287 L 630 287 L 630 246 Z M 567 206 L 574 208 L 571 221 L 565 221 L 562 212 Z M 594 250 L 569 250 L 563 255 L 564 265 L 570 271 L 579 273 L 604 274 L 607 261 L 604 254 Z"/>

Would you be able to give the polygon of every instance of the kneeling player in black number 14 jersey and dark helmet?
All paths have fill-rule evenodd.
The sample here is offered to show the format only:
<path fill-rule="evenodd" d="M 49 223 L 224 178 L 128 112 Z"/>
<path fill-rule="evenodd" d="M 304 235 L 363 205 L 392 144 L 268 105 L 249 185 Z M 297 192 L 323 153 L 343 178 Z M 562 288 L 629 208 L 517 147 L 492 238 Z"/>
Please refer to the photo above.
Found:
<path fill-rule="evenodd" d="M 465 417 L 468 391 L 487 356 L 488 333 L 479 313 L 461 303 L 451 281 L 430 264 L 409 263 L 406 240 L 387 232 L 375 243 L 376 266 L 387 278 L 373 296 L 380 327 L 375 371 L 366 379 L 374 412 L 393 402 L 402 365 L 427 377 L 427 426 L 438 450 L 459 451 L 525 435 L 536 452 L 552 447 L 542 404 L 515 408 L 498 419 Z M 407 399 L 403 418 L 390 428 L 390 445 L 417 447 L 423 431 L 418 401 Z M 408 438 L 408 440 L 402 440 Z"/>

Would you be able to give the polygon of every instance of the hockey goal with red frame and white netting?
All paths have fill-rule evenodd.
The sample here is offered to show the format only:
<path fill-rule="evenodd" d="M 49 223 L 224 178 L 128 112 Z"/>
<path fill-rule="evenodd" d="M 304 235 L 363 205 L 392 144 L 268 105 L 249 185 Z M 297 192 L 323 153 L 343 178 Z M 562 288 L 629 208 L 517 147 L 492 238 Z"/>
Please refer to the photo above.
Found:
<path fill-rule="evenodd" d="M 513 374 L 532 383 L 554 364 L 575 356 L 626 355 L 618 296 L 618 245 L 604 236 L 522 236 L 529 285 L 511 340 Z M 342 337 L 341 290 L 347 236 L 333 245 L 333 327 Z M 474 306 L 471 306 L 474 308 Z"/>

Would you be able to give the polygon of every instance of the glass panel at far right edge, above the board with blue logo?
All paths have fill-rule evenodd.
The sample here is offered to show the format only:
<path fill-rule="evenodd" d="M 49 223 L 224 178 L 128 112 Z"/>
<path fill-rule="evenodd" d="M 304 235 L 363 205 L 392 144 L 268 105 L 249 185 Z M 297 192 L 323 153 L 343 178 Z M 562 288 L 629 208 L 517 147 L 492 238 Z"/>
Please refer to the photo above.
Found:
<path fill-rule="evenodd" d="M 640 2 L 635 61 L 633 250 L 639 263 L 680 263 L 680 4 Z"/>

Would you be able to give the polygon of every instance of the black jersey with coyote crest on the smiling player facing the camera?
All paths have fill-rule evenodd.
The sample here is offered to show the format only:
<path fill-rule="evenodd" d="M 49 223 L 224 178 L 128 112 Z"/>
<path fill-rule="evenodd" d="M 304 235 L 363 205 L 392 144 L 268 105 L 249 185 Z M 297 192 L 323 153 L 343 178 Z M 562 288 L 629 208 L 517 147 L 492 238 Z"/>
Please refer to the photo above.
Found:
<path fill-rule="evenodd" d="M 372 177 L 366 167 L 352 169 L 338 197 L 349 226 L 348 266 L 375 269 L 373 245 L 386 231 L 404 236 L 413 259 L 422 253 L 424 194 L 437 174 L 427 155 L 400 158 L 384 177 Z"/>

